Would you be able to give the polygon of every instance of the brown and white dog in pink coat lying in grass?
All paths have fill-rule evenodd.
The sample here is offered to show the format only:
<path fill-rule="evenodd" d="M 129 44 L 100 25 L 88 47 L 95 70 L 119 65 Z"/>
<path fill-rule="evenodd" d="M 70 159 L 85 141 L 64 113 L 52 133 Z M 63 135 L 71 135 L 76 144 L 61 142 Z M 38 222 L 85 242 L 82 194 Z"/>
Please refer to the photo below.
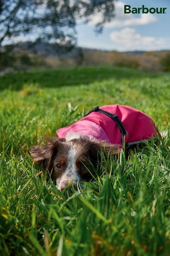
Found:
<path fill-rule="evenodd" d="M 98 170 L 102 153 L 118 155 L 122 148 L 156 136 L 155 124 L 145 113 L 123 105 L 96 107 L 79 121 L 56 131 L 42 147 L 33 146 L 31 156 L 42 163 L 58 190 L 88 182 Z M 83 188 L 83 184 L 80 185 Z"/>

